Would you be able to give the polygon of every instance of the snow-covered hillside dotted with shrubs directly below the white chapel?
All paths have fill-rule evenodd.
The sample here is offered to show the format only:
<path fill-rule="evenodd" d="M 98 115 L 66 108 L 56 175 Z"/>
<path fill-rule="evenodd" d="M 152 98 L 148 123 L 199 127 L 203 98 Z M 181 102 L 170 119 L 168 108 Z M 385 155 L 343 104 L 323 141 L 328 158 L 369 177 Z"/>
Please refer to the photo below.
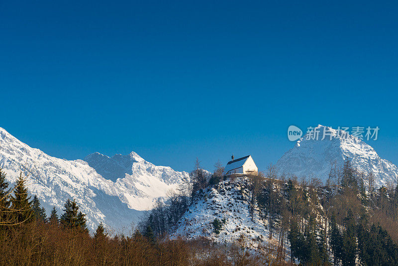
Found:
<path fill-rule="evenodd" d="M 253 220 L 249 214 L 246 180 L 246 177 L 239 177 L 234 182 L 220 182 L 218 189 L 206 188 L 205 196 L 190 206 L 172 236 L 186 239 L 205 237 L 220 243 L 231 243 L 243 233 L 253 248 L 258 243 L 269 241 L 269 231 L 258 212 L 255 211 Z M 217 237 L 211 224 L 215 218 L 226 219 L 226 224 Z"/>

